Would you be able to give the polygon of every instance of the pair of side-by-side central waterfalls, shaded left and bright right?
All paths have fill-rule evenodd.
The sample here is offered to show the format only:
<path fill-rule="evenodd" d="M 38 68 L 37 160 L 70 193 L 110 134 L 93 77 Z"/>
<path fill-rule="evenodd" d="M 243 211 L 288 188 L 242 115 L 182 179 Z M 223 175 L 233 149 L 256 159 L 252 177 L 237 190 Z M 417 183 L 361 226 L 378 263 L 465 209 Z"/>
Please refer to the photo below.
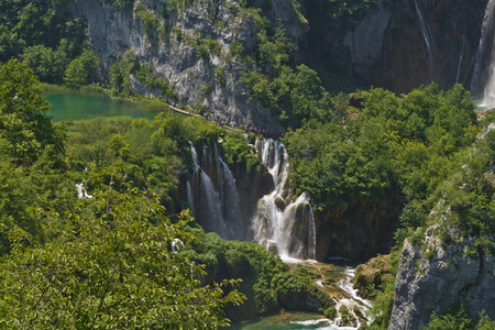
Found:
<path fill-rule="evenodd" d="M 198 222 L 226 240 L 246 240 L 280 257 L 315 258 L 316 229 L 307 194 L 292 195 L 288 186 L 288 154 L 284 144 L 256 140 L 256 152 L 273 177 L 275 189 L 257 201 L 250 223 L 241 217 L 234 176 L 218 152 L 204 145 L 198 157 L 190 145 L 195 174 L 187 183 L 187 199 Z M 199 161 L 201 160 L 201 161 Z"/>

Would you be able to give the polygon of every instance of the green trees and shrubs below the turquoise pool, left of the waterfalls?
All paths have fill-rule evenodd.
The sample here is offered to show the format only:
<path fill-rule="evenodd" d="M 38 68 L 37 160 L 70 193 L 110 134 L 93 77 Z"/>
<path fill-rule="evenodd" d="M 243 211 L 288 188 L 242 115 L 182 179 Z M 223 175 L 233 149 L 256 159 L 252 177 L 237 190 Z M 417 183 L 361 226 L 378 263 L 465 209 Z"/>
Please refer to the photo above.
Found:
<path fill-rule="evenodd" d="M 227 304 L 245 297 L 238 319 L 333 306 L 306 274 L 290 275 L 252 243 L 206 234 L 180 211 L 189 143 L 222 138 L 228 163 L 263 172 L 241 134 L 165 114 L 54 125 L 25 65 L 10 61 L 0 78 L 3 327 L 218 328 L 229 322 Z M 79 198 L 76 183 L 86 190 Z"/>

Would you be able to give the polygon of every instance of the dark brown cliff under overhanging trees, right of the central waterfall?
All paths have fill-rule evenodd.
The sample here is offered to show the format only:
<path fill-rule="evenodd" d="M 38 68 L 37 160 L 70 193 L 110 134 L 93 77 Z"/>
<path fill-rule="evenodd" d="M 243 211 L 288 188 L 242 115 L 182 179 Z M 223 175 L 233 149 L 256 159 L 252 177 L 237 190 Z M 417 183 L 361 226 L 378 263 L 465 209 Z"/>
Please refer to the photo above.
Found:
<path fill-rule="evenodd" d="M 397 230 L 404 198 L 391 193 L 375 202 L 362 200 L 345 211 L 315 213 L 317 260 L 329 256 L 360 258 L 388 253 Z"/>

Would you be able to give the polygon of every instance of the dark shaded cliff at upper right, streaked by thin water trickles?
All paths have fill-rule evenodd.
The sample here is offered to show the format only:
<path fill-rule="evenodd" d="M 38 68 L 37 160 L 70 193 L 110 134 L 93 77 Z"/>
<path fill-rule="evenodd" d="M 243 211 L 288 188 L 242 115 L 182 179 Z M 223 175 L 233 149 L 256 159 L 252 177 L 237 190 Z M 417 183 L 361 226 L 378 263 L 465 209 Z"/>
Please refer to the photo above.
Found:
<path fill-rule="evenodd" d="M 395 92 L 431 81 L 444 89 L 455 82 L 470 88 L 487 2 L 377 0 L 364 16 L 339 23 L 307 1 L 310 29 L 329 36 L 307 34 L 309 52 L 356 85 Z"/>

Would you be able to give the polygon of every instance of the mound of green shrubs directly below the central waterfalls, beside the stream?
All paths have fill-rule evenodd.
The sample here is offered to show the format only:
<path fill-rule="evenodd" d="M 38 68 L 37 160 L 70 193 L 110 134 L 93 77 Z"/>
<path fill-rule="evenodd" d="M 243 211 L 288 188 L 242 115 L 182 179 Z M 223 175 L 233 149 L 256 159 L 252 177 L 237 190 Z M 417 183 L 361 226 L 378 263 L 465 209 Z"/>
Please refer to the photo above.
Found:
<path fill-rule="evenodd" d="M 333 305 L 331 298 L 321 293 L 310 278 L 289 274 L 287 265 L 261 246 L 223 241 L 216 233 L 205 233 L 200 228 L 190 229 L 190 232 L 199 240 L 179 253 L 206 264 L 210 274 L 217 274 L 216 280 L 224 276 L 242 278 L 239 290 L 245 294 L 248 300 L 242 310 L 234 311 L 237 318 L 266 315 L 279 308 L 317 311 L 300 304 L 307 297 L 312 297 L 324 308 Z"/>

